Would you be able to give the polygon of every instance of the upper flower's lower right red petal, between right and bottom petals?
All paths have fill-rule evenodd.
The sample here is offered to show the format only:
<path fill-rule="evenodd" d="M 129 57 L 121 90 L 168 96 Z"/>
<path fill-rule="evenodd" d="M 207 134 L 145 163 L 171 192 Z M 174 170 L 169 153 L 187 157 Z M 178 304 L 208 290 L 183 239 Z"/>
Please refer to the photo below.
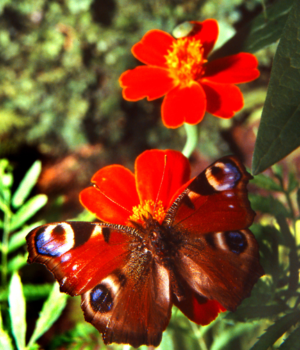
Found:
<path fill-rule="evenodd" d="M 221 118 L 231 118 L 244 106 L 244 98 L 238 86 L 201 81 L 206 93 L 208 113 Z"/>

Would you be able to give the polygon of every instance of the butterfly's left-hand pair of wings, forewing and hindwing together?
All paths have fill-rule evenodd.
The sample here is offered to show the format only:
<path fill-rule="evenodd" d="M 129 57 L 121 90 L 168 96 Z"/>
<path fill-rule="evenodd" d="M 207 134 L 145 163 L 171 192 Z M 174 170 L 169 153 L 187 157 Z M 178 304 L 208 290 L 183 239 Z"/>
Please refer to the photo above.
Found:
<path fill-rule="evenodd" d="M 169 272 L 132 227 L 61 222 L 28 233 L 28 263 L 42 263 L 60 290 L 82 294 L 85 319 L 106 344 L 160 343 L 171 317 Z"/>

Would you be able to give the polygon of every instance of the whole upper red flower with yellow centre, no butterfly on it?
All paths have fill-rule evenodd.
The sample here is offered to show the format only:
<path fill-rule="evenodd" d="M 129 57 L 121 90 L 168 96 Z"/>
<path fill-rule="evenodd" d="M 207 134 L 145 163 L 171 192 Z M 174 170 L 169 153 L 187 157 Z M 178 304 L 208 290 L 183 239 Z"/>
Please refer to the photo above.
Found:
<path fill-rule="evenodd" d="M 242 92 L 234 84 L 258 78 L 258 61 L 251 53 L 238 53 L 208 62 L 217 41 L 215 19 L 191 22 L 192 32 L 179 39 L 153 30 L 135 44 L 132 53 L 146 66 L 128 70 L 119 78 L 123 97 L 138 101 L 165 98 L 163 124 L 178 128 L 198 124 L 206 112 L 231 118 L 244 106 Z"/>

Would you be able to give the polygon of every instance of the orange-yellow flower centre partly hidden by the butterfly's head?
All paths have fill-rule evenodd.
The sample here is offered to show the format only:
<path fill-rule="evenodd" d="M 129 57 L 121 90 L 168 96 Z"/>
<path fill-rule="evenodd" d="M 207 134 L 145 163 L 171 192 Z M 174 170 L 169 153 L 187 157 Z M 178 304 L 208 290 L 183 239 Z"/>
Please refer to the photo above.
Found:
<path fill-rule="evenodd" d="M 144 204 L 139 204 L 133 207 L 133 215 L 129 217 L 131 221 L 138 222 L 139 224 L 144 224 L 145 219 L 149 219 L 149 215 L 152 215 L 153 219 L 156 219 L 160 224 L 162 224 L 163 219 L 165 219 L 166 210 L 163 207 L 163 202 L 158 201 L 155 206 L 152 200 L 144 201 Z"/>

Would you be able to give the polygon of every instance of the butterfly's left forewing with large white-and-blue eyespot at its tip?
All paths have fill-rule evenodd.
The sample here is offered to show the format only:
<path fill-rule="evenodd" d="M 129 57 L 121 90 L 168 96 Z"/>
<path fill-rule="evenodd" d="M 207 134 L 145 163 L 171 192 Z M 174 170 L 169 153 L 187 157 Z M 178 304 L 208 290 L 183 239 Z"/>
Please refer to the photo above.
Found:
<path fill-rule="evenodd" d="M 115 228 L 91 222 L 43 225 L 26 237 L 28 263 L 46 265 L 60 283 L 60 290 L 74 296 L 90 290 L 126 263 L 126 240 Z"/>

